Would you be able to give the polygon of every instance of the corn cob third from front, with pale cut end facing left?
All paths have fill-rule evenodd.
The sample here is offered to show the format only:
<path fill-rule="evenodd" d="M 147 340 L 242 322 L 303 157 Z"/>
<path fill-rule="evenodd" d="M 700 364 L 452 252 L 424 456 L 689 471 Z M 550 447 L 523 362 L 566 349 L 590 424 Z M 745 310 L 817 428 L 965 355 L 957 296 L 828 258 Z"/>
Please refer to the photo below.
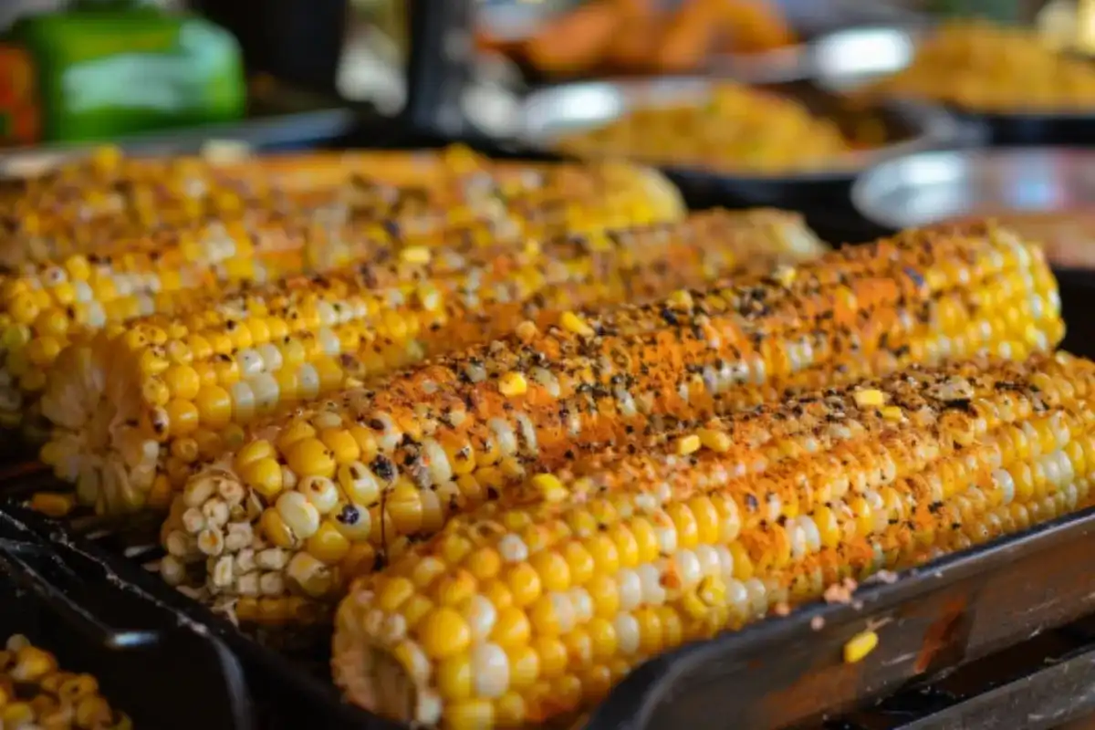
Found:
<path fill-rule="evenodd" d="M 226 431 L 234 432 L 230 442 L 242 438 L 240 427 L 255 415 L 506 334 L 529 317 L 550 318 L 560 308 L 661 294 L 758 259 L 793 262 L 818 251 L 804 246 L 795 219 L 754 232 L 783 223 L 712 213 L 508 255 L 470 250 L 458 259 L 479 257 L 483 267 L 460 276 L 450 275 L 448 256 L 424 252 L 419 259 L 420 250 L 404 250 L 416 256 L 394 267 L 256 289 L 184 317 L 107 328 L 66 350 L 50 371 L 43 410 L 57 428 L 43 457 L 103 511 L 141 508 L 157 479 L 157 503 L 166 507 L 163 488 L 181 486 L 193 464 L 212 459 Z M 757 241 L 786 245 L 757 252 Z"/>

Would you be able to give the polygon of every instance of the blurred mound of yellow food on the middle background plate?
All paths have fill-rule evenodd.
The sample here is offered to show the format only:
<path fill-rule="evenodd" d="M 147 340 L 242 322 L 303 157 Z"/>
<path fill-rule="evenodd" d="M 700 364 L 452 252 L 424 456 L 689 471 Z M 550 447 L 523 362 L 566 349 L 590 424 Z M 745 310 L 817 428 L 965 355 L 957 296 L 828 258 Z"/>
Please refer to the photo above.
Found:
<path fill-rule="evenodd" d="M 706 103 L 639 107 L 557 140 L 561 152 L 722 172 L 803 172 L 846 164 L 838 125 L 792 99 L 719 83 Z"/>

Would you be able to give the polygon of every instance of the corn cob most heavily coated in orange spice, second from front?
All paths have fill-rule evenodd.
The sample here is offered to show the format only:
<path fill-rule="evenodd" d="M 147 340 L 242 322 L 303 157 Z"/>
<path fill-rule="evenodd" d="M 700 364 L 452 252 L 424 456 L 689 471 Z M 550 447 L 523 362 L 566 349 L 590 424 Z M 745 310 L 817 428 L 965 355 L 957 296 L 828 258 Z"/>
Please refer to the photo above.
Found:
<path fill-rule="evenodd" d="M 978 352 L 1023 357 L 1063 329 L 1045 260 L 1004 231 L 912 233 L 557 323 L 522 324 L 254 427 L 255 440 L 175 500 L 164 577 L 196 570 L 217 603 L 263 595 L 265 617 L 284 617 L 300 596 L 338 596 L 348 576 L 528 471 L 635 448 L 788 390 Z M 262 583 L 258 554 L 278 556 Z"/>

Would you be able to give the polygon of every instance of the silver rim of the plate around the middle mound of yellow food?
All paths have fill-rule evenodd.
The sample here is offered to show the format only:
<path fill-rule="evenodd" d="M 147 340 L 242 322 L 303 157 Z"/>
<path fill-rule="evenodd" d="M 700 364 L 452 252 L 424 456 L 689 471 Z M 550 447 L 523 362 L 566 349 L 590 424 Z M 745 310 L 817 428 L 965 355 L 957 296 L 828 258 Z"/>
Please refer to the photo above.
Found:
<path fill-rule="evenodd" d="M 624 81 L 589 81 L 551 86 L 529 95 L 519 115 L 514 137 L 521 143 L 545 152 L 554 151 L 557 140 L 569 134 L 593 129 L 635 108 L 704 104 L 716 80 L 698 77 L 657 78 Z M 958 143 L 961 127 L 938 107 L 912 102 L 887 103 L 885 111 L 900 119 L 910 135 L 907 139 L 874 150 L 854 152 L 832 169 L 761 175 L 753 172 L 684 169 L 665 164 L 666 170 L 710 172 L 723 177 L 764 177 L 795 181 L 848 179 L 880 160 Z"/>

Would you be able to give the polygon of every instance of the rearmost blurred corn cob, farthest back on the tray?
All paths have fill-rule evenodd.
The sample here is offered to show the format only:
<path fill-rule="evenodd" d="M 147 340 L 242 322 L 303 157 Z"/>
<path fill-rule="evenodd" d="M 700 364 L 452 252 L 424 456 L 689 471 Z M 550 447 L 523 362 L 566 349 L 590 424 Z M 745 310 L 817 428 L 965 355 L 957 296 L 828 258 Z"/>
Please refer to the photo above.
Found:
<path fill-rule="evenodd" d="M 684 210 L 665 177 L 636 166 L 495 165 L 454 151 L 404 165 L 410 173 L 401 174 L 395 162 L 392 176 L 403 179 L 393 184 L 385 181 L 383 167 L 368 164 L 372 155 L 360 158 L 345 165 L 295 158 L 219 166 L 196 159 L 122 159 L 116 150 L 104 149 L 50 174 L 11 182 L 0 192 L 0 202 L 7 204 L 0 264 L 13 268 L 101 253 L 114 241 L 181 225 L 233 222 L 255 209 L 395 215 L 407 230 L 425 233 L 452 217 L 487 218 L 506 220 L 530 235 L 557 231 L 567 222 L 604 227 L 679 220 Z M 413 155 L 404 158 L 414 161 Z M 304 171 L 293 176 L 288 172 L 293 165 Z M 264 175 L 267 169 L 274 174 Z M 372 176 L 347 170 L 369 170 Z M 451 212 L 437 212 L 445 209 Z"/>

